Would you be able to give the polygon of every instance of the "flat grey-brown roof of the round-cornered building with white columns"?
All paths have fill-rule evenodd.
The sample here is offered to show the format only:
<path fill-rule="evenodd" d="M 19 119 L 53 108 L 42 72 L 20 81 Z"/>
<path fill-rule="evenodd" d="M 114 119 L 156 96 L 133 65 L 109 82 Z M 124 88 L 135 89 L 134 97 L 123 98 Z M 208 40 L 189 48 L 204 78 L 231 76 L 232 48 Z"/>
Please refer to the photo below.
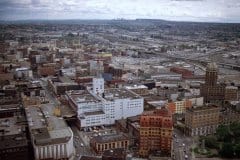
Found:
<path fill-rule="evenodd" d="M 53 104 L 26 107 L 30 132 L 36 145 L 56 144 L 67 142 L 71 129 L 61 117 L 56 117 Z"/>

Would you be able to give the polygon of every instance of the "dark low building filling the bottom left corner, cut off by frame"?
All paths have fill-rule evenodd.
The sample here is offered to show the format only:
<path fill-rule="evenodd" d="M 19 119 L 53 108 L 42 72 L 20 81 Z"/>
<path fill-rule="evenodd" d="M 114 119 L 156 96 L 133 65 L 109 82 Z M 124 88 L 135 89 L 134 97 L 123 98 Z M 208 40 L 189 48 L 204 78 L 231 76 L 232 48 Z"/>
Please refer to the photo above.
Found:
<path fill-rule="evenodd" d="M 20 105 L 0 105 L 1 160 L 31 159 L 25 122 Z"/>

